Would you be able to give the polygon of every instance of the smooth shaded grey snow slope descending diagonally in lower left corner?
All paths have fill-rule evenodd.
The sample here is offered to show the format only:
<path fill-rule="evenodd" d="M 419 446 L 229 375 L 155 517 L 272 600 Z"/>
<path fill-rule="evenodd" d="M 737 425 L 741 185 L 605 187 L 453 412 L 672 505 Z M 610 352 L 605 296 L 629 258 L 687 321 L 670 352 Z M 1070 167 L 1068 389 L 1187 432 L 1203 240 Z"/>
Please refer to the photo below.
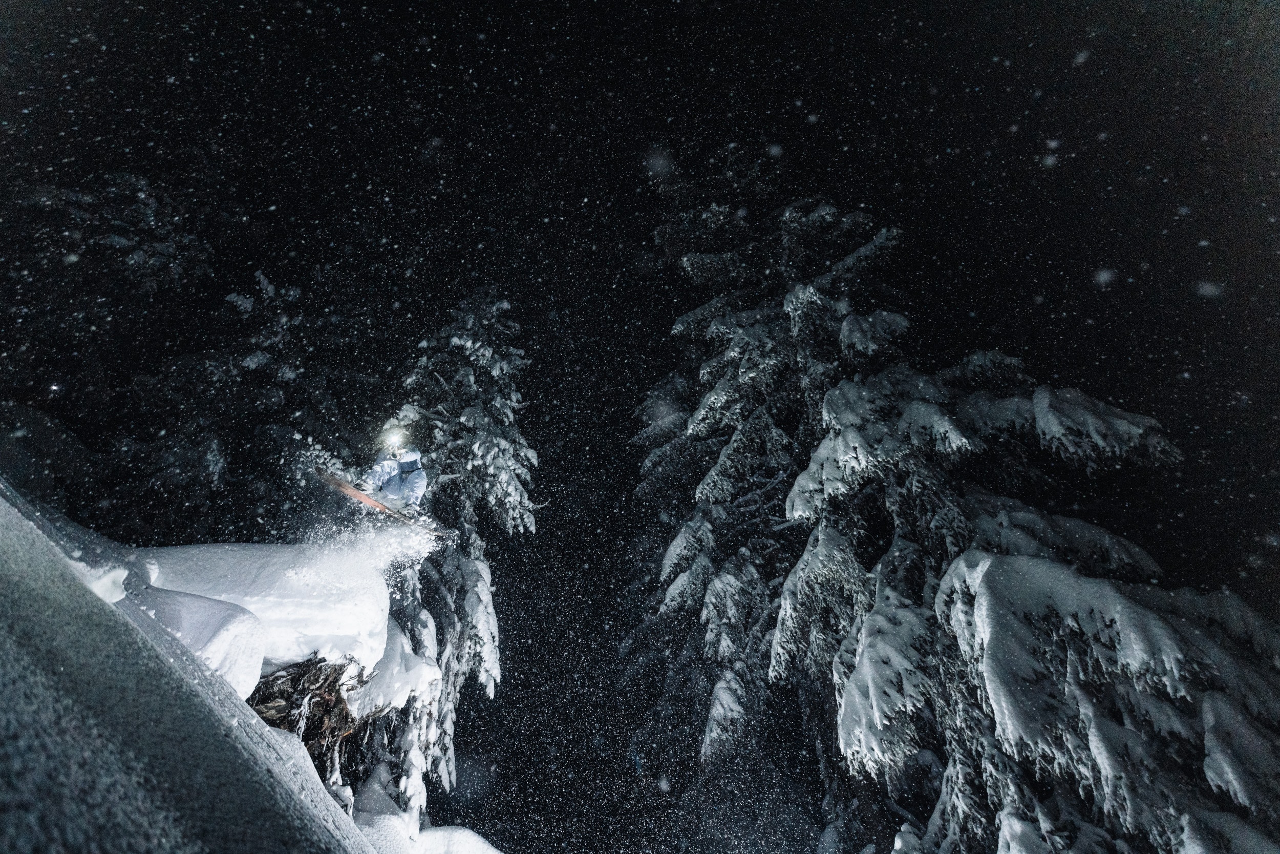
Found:
<path fill-rule="evenodd" d="M 0 850 L 372 853 L 221 677 L 55 539 L 0 481 Z"/>

